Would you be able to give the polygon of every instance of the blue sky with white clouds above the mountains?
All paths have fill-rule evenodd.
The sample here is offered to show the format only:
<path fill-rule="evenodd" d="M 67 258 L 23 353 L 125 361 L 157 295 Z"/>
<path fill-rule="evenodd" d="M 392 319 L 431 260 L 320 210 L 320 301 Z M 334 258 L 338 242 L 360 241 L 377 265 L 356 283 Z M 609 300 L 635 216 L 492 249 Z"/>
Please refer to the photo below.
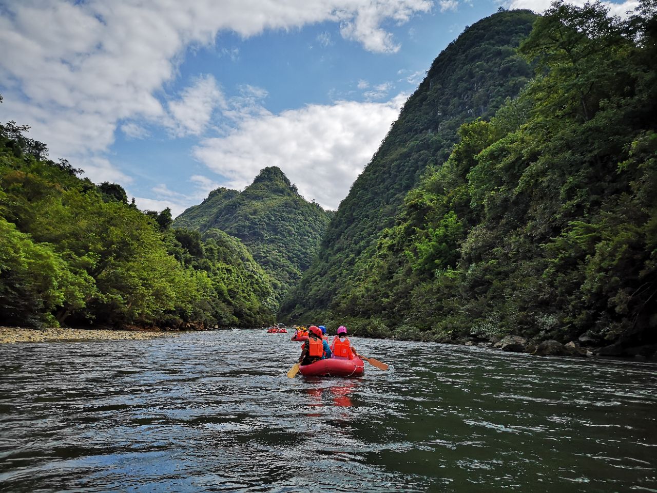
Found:
<path fill-rule="evenodd" d="M 0 121 L 143 210 L 265 166 L 334 210 L 440 51 L 499 7 L 549 0 L 0 0 Z"/>

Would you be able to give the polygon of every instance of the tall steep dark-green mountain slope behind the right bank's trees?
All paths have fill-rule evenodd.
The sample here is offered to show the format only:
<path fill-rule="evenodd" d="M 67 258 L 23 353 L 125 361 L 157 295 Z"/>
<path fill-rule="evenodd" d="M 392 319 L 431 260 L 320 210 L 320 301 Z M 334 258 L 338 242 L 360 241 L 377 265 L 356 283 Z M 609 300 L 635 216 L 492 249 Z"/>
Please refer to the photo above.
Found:
<path fill-rule="evenodd" d="M 378 234 L 394 225 L 420 176 L 447 159 L 459 126 L 490 118 L 532 77 L 516 48 L 535 18 L 530 11 L 498 12 L 467 28 L 434 60 L 340 204 L 317 259 L 281 306 L 284 317 L 329 316 L 344 302 L 359 263 L 374 253 Z"/>

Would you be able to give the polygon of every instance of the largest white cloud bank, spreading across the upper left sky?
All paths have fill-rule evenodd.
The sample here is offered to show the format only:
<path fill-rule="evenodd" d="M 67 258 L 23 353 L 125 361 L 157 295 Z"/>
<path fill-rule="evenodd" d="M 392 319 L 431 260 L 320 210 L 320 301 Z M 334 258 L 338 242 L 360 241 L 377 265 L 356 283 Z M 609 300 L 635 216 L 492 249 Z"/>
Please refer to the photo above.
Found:
<path fill-rule="evenodd" d="M 207 99 L 193 88 L 166 107 L 156 97 L 177 76 L 186 49 L 211 45 L 220 31 L 248 37 L 338 22 L 342 35 L 365 49 L 396 51 L 392 35 L 381 26 L 406 22 L 431 5 L 430 0 L 4 2 L 3 116 L 32 126 L 32 137 L 47 143 L 55 157 L 103 156 L 119 122 L 127 120 L 166 125 L 173 118 L 177 135 L 196 135 L 208 124 L 208 110 L 194 104 Z M 238 51 L 225 55 L 236 59 Z M 214 101 L 212 91 L 209 101 Z M 200 114 L 193 114 L 193 107 L 202 107 Z M 131 130 L 127 126 L 126 135 Z M 95 168 L 85 169 L 99 179 Z M 108 168 L 102 169 L 105 176 Z"/>

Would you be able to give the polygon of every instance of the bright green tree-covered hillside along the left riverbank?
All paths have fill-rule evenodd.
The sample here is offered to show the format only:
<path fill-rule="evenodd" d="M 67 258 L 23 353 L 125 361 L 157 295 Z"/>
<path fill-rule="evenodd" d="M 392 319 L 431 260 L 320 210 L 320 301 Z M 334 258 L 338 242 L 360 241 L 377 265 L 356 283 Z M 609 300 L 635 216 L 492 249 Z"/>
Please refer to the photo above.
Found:
<path fill-rule="evenodd" d="M 172 230 L 171 212 L 137 210 L 120 185 L 0 125 L 0 319 L 14 325 L 170 328 L 261 325 L 275 300 L 239 241 Z"/>

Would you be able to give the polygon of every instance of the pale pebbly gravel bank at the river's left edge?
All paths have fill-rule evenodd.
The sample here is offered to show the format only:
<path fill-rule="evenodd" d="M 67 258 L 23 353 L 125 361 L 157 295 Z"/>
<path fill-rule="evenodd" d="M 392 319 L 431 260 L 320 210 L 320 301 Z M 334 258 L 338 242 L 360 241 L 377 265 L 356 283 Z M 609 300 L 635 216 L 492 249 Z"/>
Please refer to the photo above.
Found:
<path fill-rule="evenodd" d="M 174 337 L 162 331 L 115 331 L 108 329 L 24 329 L 0 327 L 0 344 L 11 342 L 46 342 L 51 340 L 145 340 Z"/>

